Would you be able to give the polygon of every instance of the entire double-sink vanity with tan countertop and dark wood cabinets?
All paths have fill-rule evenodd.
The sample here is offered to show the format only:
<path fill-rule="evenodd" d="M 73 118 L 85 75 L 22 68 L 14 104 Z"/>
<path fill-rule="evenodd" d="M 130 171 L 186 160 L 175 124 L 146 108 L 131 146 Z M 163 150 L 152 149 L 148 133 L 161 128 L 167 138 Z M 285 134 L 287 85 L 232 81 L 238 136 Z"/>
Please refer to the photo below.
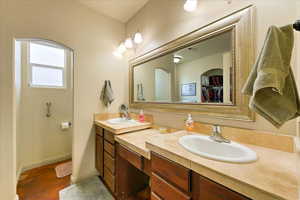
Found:
<path fill-rule="evenodd" d="M 95 115 L 96 168 L 116 199 L 298 198 L 292 137 L 222 127 L 238 143 L 218 143 L 209 139 L 211 125 L 176 130 L 155 126 L 151 116 L 140 123 L 137 116 Z"/>

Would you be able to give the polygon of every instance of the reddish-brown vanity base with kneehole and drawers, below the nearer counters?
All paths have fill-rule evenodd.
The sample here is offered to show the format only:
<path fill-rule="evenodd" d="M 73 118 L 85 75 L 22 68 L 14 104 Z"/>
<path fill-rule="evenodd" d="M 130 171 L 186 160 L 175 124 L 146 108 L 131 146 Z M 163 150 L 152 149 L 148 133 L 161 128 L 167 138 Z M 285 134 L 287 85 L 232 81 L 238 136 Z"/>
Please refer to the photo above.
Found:
<path fill-rule="evenodd" d="M 117 172 L 119 199 L 133 198 L 135 194 L 146 191 L 149 185 L 151 185 L 151 194 L 144 195 L 144 199 L 249 199 L 159 154 L 151 153 L 150 161 L 123 145 L 117 146 L 117 168 L 120 168 Z M 151 184 L 147 182 L 148 180 L 151 180 Z"/>

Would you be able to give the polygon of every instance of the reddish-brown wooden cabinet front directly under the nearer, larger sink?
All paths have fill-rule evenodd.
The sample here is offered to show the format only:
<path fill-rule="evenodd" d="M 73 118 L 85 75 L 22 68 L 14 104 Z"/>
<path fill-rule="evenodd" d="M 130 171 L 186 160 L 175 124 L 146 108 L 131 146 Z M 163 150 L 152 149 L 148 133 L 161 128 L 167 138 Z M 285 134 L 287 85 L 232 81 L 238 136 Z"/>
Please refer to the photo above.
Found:
<path fill-rule="evenodd" d="M 249 199 L 156 153 L 151 153 L 151 169 L 152 199 Z"/>

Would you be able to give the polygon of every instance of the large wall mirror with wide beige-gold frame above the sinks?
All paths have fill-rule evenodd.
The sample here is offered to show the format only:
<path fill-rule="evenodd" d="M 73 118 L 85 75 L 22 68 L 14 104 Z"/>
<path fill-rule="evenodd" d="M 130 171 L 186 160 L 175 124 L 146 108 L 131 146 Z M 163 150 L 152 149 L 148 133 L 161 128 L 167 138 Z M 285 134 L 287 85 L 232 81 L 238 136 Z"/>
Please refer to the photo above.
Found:
<path fill-rule="evenodd" d="M 130 62 L 130 106 L 254 120 L 241 94 L 254 62 L 253 8 Z"/>

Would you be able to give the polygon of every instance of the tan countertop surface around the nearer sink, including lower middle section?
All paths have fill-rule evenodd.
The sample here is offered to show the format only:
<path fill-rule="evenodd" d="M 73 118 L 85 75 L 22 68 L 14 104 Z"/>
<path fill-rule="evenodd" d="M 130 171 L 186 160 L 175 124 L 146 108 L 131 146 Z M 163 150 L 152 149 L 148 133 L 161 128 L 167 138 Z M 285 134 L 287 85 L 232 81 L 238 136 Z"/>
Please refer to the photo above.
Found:
<path fill-rule="evenodd" d="M 116 136 L 116 140 L 150 159 L 156 152 L 211 180 L 255 200 L 299 199 L 299 155 L 244 144 L 254 150 L 259 159 L 253 163 L 234 164 L 203 158 L 185 150 L 178 143 L 184 135 L 199 134 L 177 131 L 161 134 L 147 129 Z"/>

